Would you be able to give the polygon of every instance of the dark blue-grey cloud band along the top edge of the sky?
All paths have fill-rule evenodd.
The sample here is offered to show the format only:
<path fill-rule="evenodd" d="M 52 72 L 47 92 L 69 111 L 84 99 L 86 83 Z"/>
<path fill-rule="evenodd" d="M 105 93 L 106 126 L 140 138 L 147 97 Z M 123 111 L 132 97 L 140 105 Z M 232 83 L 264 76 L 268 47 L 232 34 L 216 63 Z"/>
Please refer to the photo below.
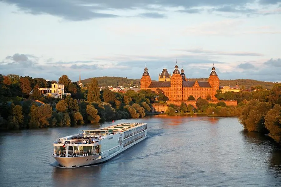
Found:
<path fill-rule="evenodd" d="M 163 10 L 165 8 L 183 8 L 179 12 L 198 13 L 204 8 L 213 8 L 220 12 L 249 13 L 254 10 L 246 7 L 257 3 L 261 6 L 277 4 L 280 0 L 2 0 L 8 4 L 16 5 L 21 11 L 33 15 L 50 14 L 62 17 L 66 20 L 81 21 L 94 18 L 119 17 L 115 14 L 102 13 L 103 11 L 115 10 Z M 156 7 L 156 8 L 155 8 Z M 144 13 L 145 17 L 163 18 L 164 15 L 155 13 Z"/>

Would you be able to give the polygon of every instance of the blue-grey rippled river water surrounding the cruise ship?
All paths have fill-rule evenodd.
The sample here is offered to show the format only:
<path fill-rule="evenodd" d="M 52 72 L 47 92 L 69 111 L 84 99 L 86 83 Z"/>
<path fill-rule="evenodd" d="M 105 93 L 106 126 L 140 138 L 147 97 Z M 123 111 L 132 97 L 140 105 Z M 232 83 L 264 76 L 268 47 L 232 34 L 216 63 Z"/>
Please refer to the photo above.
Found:
<path fill-rule="evenodd" d="M 61 168 L 52 142 L 82 129 L 145 122 L 148 138 L 106 163 Z M 281 186 L 281 151 L 236 117 L 153 116 L 0 134 L 0 186 Z"/>

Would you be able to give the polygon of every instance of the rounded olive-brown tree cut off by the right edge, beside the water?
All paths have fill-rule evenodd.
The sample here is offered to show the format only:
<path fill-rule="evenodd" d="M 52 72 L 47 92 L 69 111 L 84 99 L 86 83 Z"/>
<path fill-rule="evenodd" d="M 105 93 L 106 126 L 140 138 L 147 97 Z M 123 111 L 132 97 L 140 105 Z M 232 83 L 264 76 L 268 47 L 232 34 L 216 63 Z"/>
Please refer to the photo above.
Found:
<path fill-rule="evenodd" d="M 269 137 L 281 144 L 281 106 L 275 104 L 264 119 L 264 125 L 269 130 Z"/>

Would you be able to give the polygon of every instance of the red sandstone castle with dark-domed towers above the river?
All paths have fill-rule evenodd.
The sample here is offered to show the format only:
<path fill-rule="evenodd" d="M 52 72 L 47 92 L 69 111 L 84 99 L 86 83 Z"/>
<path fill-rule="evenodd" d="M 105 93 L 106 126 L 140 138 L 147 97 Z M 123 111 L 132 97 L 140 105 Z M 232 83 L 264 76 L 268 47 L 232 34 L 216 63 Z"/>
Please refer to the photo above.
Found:
<path fill-rule="evenodd" d="M 169 74 L 166 69 L 163 69 L 159 74 L 159 81 L 152 82 L 148 73 L 147 67 L 144 69 L 144 73 L 141 77 L 141 89 L 161 89 L 164 91 L 165 96 L 169 98 L 169 101 L 187 101 L 188 97 L 192 95 L 196 100 L 198 98 L 207 98 L 210 94 L 212 100 L 215 98 L 216 90 L 219 89 L 219 77 L 215 72 L 213 66 L 208 81 L 189 81 L 184 70 L 178 70 L 178 65 L 175 65 L 173 74 Z"/>

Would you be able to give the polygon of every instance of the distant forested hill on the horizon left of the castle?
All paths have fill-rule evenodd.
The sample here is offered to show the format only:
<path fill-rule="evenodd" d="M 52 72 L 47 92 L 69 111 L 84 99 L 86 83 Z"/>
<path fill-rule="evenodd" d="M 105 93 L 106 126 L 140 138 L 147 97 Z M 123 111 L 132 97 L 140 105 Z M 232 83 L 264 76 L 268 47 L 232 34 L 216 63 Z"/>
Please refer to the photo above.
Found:
<path fill-rule="evenodd" d="M 81 82 L 86 85 L 91 82 L 91 79 L 96 79 L 99 83 L 99 86 L 124 86 L 124 87 L 132 87 L 132 86 L 140 86 L 140 80 L 139 79 L 128 79 L 127 77 L 93 77 L 81 80 Z"/>

